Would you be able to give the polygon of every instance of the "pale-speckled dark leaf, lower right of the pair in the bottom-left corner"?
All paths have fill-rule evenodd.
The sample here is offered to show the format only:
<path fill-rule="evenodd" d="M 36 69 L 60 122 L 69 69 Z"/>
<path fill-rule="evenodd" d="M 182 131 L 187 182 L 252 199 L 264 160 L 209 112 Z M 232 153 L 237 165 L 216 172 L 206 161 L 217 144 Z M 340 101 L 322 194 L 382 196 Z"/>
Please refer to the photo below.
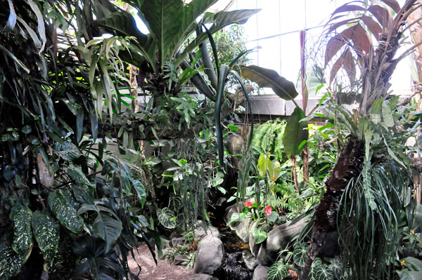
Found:
<path fill-rule="evenodd" d="M 46 209 L 35 211 L 32 214 L 32 230 L 37 240 L 39 250 L 44 255 L 44 260 L 51 262 L 56 256 L 60 227 Z"/>

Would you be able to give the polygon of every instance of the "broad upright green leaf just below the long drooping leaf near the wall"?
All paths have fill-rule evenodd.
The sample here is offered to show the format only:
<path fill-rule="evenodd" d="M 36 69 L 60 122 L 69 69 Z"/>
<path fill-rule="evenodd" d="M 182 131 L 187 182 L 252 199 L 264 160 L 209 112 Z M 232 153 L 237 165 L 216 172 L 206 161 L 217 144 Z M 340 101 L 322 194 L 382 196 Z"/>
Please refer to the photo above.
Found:
<path fill-rule="evenodd" d="M 300 154 L 303 149 L 303 146 L 300 147 L 302 142 L 308 139 L 307 121 L 300 121 L 303 118 L 305 114 L 300 107 L 296 107 L 288 118 L 283 135 L 284 152 L 288 156 Z"/>

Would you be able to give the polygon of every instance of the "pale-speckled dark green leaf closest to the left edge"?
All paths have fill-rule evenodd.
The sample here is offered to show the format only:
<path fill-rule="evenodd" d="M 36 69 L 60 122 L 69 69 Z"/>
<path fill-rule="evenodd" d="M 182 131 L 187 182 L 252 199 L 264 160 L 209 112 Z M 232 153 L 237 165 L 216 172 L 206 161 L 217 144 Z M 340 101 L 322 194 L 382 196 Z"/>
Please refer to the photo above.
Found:
<path fill-rule="evenodd" d="M 32 248 L 31 230 L 32 211 L 22 204 L 14 206 L 11 211 L 13 222 L 13 250 L 19 255 L 26 255 Z"/>

